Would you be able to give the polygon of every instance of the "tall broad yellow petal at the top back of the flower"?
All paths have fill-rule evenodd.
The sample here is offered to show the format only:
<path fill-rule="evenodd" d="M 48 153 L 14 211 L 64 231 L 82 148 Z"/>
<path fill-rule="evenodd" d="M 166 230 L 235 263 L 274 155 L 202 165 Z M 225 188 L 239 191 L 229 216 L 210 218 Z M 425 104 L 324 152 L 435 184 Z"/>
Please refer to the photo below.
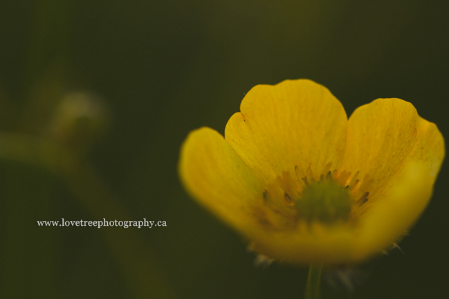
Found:
<path fill-rule="evenodd" d="M 327 88 L 313 81 L 258 85 L 229 119 L 225 138 L 263 184 L 283 171 L 320 173 L 338 167 L 345 151 L 347 116 Z"/>

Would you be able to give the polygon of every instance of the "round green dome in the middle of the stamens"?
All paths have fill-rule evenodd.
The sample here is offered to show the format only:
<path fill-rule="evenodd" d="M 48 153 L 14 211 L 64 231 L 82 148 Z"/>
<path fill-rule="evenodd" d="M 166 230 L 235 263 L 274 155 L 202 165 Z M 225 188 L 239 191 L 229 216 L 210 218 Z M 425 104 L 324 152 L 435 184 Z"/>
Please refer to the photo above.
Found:
<path fill-rule="evenodd" d="M 334 180 L 323 180 L 304 186 L 295 202 L 297 215 L 306 222 L 346 221 L 351 214 L 351 195 Z"/>

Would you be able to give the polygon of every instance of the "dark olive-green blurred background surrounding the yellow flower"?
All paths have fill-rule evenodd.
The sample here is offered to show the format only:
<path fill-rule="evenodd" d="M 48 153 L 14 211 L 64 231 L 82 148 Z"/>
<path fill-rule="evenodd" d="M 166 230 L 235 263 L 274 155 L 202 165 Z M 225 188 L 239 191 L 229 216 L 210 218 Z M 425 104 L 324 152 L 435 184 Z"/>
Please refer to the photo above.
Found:
<path fill-rule="evenodd" d="M 297 78 L 348 115 L 405 99 L 448 137 L 448 16 L 448 1 L 2 0 L 0 298 L 302 298 L 307 269 L 255 267 L 187 197 L 183 139 Z M 448 176 L 405 254 L 360 267 L 351 295 L 323 282 L 323 298 L 449 298 Z M 167 227 L 36 222 L 61 218 Z"/>

